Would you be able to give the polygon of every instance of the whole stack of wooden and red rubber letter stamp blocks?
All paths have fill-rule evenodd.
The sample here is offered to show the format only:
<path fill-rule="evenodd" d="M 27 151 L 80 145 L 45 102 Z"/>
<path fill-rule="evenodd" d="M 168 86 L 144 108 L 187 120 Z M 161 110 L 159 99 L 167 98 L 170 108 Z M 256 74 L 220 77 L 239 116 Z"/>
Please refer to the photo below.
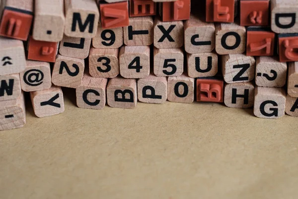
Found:
<path fill-rule="evenodd" d="M 0 130 L 81 108 L 224 102 L 298 116 L 298 0 L 0 0 Z M 287 75 L 288 73 L 288 75 Z M 287 91 L 287 92 L 286 92 Z"/>

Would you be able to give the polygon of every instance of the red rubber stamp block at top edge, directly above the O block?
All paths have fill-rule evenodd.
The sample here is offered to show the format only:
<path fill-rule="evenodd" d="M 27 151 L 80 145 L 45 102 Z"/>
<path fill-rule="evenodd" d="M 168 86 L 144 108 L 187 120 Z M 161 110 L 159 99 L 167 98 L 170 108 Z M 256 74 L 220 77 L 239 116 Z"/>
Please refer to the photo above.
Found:
<path fill-rule="evenodd" d="M 234 0 L 206 0 L 206 21 L 234 22 Z"/>

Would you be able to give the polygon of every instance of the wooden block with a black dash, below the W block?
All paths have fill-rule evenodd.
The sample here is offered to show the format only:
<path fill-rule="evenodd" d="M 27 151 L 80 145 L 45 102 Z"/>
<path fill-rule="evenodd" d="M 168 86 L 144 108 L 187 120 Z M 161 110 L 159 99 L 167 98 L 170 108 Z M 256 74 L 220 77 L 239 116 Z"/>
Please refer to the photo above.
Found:
<path fill-rule="evenodd" d="M 0 101 L 0 130 L 21 128 L 25 123 L 26 112 L 23 94 L 15 100 Z"/>

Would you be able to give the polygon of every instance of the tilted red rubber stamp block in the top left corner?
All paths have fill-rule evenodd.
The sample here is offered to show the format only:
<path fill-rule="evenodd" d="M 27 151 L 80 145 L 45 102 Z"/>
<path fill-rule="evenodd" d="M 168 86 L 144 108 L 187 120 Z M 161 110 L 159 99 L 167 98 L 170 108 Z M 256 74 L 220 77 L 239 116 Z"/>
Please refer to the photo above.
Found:
<path fill-rule="evenodd" d="M 5 7 L 0 24 L 0 35 L 26 41 L 30 32 L 33 13 Z"/>

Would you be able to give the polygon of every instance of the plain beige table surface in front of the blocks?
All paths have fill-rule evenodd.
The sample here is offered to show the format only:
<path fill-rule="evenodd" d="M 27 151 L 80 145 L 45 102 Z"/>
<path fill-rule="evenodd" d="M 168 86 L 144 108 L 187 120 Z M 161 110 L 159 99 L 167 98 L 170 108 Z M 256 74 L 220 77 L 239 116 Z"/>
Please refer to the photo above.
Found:
<path fill-rule="evenodd" d="M 297 199 L 298 118 L 212 103 L 77 108 L 0 132 L 0 199 Z"/>

